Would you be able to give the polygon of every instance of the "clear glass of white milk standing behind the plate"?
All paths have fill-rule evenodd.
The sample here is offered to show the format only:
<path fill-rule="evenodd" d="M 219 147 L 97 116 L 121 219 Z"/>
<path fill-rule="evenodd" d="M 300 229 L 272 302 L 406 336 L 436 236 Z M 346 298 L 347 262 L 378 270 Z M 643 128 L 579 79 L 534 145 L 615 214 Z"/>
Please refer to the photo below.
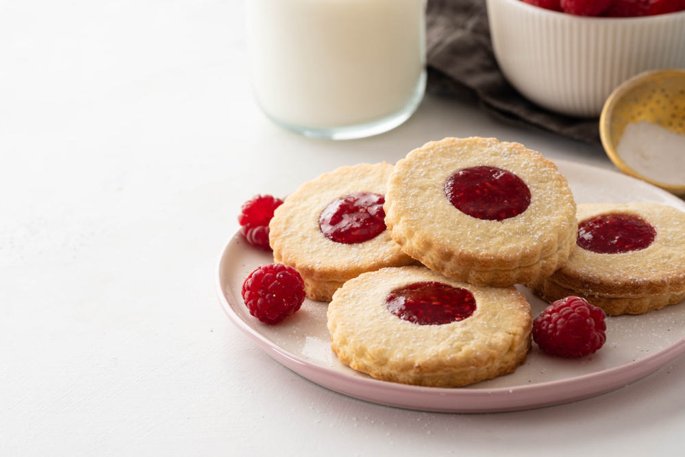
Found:
<path fill-rule="evenodd" d="M 306 136 L 387 132 L 425 90 L 425 0 L 247 0 L 253 90 Z"/>

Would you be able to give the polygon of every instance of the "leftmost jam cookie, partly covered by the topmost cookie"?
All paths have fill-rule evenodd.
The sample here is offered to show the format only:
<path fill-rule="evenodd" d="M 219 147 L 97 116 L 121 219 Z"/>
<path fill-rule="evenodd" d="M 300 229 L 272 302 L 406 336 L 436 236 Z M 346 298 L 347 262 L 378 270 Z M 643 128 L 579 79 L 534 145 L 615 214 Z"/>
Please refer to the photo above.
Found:
<path fill-rule="evenodd" d="M 343 166 L 302 184 L 269 223 L 275 262 L 294 267 L 307 296 L 330 301 L 347 280 L 414 260 L 390 238 L 382 204 L 393 166 Z"/>

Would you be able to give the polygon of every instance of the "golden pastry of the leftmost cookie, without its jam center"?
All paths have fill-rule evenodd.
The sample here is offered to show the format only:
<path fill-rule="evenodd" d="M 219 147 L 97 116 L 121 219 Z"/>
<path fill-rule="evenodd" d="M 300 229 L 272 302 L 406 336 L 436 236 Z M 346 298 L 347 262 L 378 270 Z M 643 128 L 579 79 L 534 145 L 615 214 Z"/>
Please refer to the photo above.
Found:
<path fill-rule="evenodd" d="M 414 261 L 390 238 L 384 225 L 379 234 L 361 243 L 338 243 L 321 228 L 322 213 L 340 197 L 383 196 L 392 171 L 386 162 L 343 166 L 302 184 L 275 210 L 269 223 L 274 261 L 300 273 L 310 299 L 330 301 L 345 281 L 361 273 Z M 382 214 L 377 217 L 382 223 Z"/>

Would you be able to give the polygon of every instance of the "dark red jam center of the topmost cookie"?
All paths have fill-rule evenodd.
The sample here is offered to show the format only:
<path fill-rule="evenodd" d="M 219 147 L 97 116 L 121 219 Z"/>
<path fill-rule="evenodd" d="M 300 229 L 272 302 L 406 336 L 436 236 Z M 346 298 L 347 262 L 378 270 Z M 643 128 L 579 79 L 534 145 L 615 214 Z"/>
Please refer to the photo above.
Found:
<path fill-rule="evenodd" d="M 495 166 L 472 166 L 451 175 L 445 196 L 471 217 L 503 221 L 518 216 L 530 205 L 530 189 L 520 177 Z"/>

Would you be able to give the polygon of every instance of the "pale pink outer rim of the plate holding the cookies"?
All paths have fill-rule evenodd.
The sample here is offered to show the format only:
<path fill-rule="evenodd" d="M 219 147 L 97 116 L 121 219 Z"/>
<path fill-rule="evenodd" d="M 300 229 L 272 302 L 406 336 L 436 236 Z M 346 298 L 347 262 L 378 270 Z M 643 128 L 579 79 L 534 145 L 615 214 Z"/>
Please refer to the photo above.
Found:
<path fill-rule="evenodd" d="M 656 190 L 657 193 L 662 194 L 667 200 L 679 201 L 681 209 L 685 207 L 685 202 L 682 202 L 675 195 L 671 195 L 665 190 L 622 173 L 569 160 L 553 160 L 553 162 L 563 166 L 575 166 L 581 169 L 601 171 L 602 173 L 613 173 L 629 180 L 634 180 L 640 185 L 644 184 L 652 190 Z M 227 298 L 227 291 L 223 288 L 221 273 L 229 247 L 233 240 L 239 236 L 240 230 L 225 243 L 223 249 L 221 249 L 215 270 L 216 294 L 221 308 L 223 308 L 229 320 L 251 338 L 252 341 L 257 343 L 267 355 L 288 369 L 303 376 L 303 378 L 329 388 L 332 391 L 368 402 L 434 412 L 504 412 L 543 408 L 614 391 L 617 388 L 644 378 L 685 352 L 685 336 L 682 336 L 682 338 L 671 343 L 671 345 L 649 356 L 627 362 L 618 367 L 586 373 L 572 378 L 511 387 L 440 388 L 398 384 L 373 378 L 357 378 L 310 362 L 282 349 L 262 334 L 254 331 L 242 319 L 240 314 L 236 312 L 234 306 L 239 305 L 233 305 Z M 560 392 L 564 395 L 560 395 Z M 439 402 L 426 401 L 431 399 L 439 399 Z"/>

